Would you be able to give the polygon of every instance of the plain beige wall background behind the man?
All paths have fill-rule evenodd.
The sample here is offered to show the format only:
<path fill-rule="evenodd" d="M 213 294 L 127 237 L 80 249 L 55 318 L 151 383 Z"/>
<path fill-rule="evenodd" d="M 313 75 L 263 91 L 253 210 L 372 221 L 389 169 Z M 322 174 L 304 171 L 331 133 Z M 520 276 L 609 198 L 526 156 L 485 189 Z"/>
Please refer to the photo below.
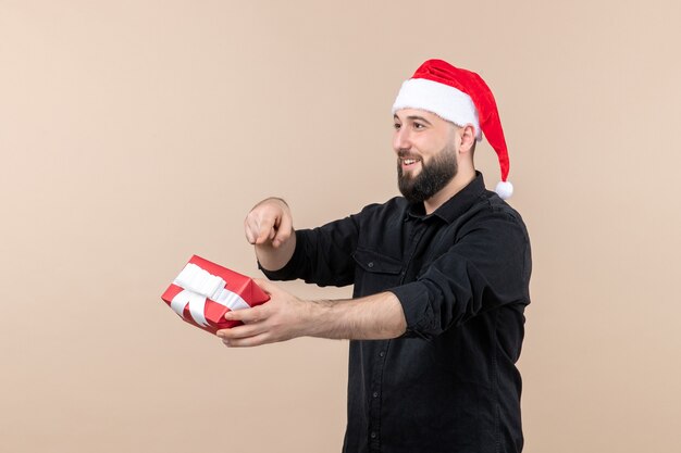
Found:
<path fill-rule="evenodd" d="M 0 0 L 0 451 L 339 451 L 346 342 L 227 350 L 160 294 L 193 253 L 258 276 L 265 196 L 297 227 L 394 196 L 389 106 L 433 56 L 493 87 L 533 239 L 525 451 L 679 451 L 680 17 Z"/>

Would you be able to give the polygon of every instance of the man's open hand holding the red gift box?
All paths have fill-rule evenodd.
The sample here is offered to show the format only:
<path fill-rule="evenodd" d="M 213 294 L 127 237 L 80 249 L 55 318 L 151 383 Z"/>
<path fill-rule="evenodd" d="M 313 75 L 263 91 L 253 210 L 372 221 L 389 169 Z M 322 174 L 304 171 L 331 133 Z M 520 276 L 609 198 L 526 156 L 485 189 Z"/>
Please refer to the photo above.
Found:
<path fill-rule="evenodd" d="M 253 281 L 270 294 L 270 300 L 252 309 L 227 312 L 225 319 L 240 320 L 243 326 L 218 331 L 218 337 L 227 347 L 256 347 L 290 340 L 308 335 L 312 302 L 301 301 L 295 295 L 267 280 Z"/>

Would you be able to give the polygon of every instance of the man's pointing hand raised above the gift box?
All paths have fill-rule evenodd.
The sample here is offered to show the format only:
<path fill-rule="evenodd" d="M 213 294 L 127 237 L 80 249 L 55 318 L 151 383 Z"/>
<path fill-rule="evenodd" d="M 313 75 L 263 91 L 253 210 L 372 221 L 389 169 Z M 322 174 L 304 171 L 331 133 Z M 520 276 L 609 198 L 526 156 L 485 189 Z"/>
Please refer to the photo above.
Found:
<path fill-rule="evenodd" d="M 244 227 L 248 242 L 276 249 L 290 238 L 293 217 L 284 200 L 268 198 L 248 213 Z"/>

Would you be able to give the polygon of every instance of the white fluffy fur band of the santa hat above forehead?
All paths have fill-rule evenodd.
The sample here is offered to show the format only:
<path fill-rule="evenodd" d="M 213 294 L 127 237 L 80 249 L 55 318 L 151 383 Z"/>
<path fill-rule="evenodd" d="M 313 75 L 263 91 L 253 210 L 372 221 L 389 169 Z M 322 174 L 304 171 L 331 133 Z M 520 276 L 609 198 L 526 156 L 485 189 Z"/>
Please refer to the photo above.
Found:
<path fill-rule="evenodd" d="M 473 100 L 463 91 L 448 85 L 425 78 L 406 80 L 393 104 L 393 114 L 401 109 L 425 110 L 461 127 L 470 124 L 475 128 L 478 141 L 482 140 Z"/>

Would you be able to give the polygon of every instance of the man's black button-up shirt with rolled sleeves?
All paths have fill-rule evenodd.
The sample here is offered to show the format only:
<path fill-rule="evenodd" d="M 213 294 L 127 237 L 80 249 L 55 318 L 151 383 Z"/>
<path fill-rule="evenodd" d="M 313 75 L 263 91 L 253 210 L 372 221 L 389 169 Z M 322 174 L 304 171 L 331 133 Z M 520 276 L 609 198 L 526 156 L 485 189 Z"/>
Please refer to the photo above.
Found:
<path fill-rule="evenodd" d="M 522 450 L 515 364 L 530 242 L 481 174 L 431 215 L 395 198 L 296 239 L 268 277 L 355 284 L 354 297 L 392 291 L 407 319 L 400 338 L 350 341 L 344 452 Z"/>

